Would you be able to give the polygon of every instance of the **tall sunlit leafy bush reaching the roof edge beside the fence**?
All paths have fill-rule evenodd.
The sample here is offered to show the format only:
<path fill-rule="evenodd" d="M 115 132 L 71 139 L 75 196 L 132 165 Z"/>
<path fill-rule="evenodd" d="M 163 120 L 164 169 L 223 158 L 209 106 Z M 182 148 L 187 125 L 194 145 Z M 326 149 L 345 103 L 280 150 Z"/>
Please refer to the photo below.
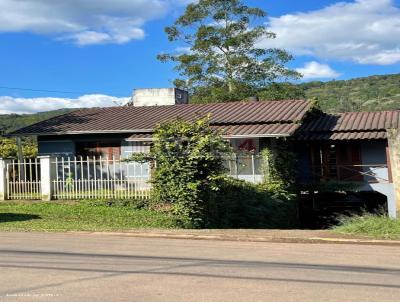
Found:
<path fill-rule="evenodd" d="M 223 156 L 228 143 L 210 128 L 209 118 L 177 119 L 159 125 L 150 153 L 129 160 L 153 161 L 152 198 L 170 204 L 189 227 L 204 224 L 207 196 L 225 177 Z"/>

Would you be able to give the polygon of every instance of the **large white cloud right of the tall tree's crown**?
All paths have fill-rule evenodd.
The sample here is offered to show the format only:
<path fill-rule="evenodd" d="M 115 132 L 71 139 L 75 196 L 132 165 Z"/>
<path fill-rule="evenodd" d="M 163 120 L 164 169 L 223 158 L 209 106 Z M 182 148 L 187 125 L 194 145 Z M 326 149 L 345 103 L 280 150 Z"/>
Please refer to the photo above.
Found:
<path fill-rule="evenodd" d="M 270 18 L 268 25 L 277 38 L 262 40 L 263 47 L 359 64 L 400 62 L 400 9 L 392 0 L 338 2 Z"/>

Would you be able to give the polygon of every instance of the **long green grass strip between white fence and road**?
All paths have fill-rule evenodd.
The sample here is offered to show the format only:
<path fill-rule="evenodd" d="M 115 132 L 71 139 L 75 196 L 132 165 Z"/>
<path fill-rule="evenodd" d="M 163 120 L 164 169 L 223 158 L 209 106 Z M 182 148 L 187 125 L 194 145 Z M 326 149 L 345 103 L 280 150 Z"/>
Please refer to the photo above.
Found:
<path fill-rule="evenodd" d="M 89 202 L 0 203 L 0 231 L 123 231 L 177 228 L 171 215 Z"/>

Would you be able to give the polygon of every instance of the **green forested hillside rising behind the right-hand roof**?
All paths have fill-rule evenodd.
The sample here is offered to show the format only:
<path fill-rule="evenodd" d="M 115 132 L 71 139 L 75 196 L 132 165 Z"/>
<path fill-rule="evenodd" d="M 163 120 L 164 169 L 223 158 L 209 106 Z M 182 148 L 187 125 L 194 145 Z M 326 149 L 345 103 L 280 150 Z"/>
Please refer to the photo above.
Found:
<path fill-rule="evenodd" d="M 317 98 L 325 111 L 400 109 L 400 74 L 347 81 L 308 82 L 298 85 L 307 99 Z"/>

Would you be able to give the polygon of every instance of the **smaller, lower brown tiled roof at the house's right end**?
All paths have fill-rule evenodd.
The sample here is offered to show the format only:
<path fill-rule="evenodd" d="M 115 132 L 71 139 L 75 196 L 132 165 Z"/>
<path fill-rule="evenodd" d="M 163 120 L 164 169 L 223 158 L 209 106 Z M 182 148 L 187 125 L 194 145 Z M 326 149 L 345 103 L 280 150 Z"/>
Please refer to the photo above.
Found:
<path fill-rule="evenodd" d="M 346 112 L 310 118 L 297 131 L 302 140 L 386 139 L 386 130 L 400 127 L 400 111 Z"/>

